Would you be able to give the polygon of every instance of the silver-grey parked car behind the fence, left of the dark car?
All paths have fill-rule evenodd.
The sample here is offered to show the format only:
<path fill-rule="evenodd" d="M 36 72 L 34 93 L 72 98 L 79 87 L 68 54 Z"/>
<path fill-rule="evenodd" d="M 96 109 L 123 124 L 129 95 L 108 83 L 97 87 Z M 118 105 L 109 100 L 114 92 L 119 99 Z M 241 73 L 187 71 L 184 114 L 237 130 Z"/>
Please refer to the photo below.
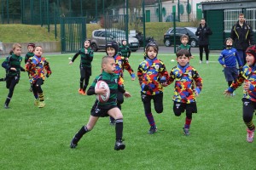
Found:
<path fill-rule="evenodd" d="M 105 49 L 106 42 L 113 40 L 119 42 L 125 39 L 125 31 L 123 30 L 106 30 L 100 29 L 92 31 L 90 47 L 97 51 L 99 49 Z M 129 47 L 131 48 L 132 52 L 137 51 L 139 48 L 139 42 L 135 37 L 128 37 Z"/>

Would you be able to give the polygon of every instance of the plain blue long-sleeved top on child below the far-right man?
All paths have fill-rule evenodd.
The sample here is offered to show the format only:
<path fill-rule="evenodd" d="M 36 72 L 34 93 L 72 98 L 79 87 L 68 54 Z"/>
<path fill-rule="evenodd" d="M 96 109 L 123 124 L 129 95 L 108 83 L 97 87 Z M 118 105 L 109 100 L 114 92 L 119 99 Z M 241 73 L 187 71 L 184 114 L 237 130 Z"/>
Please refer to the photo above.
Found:
<path fill-rule="evenodd" d="M 224 61 L 223 61 L 224 59 Z M 220 65 L 226 65 L 227 67 L 236 67 L 236 60 L 239 67 L 241 64 L 241 59 L 236 51 L 236 48 L 224 49 L 218 57 L 218 62 Z"/>

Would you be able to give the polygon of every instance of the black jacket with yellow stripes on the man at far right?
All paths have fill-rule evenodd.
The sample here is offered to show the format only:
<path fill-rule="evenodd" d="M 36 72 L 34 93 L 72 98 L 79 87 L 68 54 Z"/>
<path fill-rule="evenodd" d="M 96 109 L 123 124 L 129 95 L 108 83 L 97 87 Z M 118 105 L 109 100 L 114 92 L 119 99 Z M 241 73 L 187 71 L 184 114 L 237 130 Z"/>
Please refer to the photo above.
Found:
<path fill-rule="evenodd" d="M 254 44 L 253 28 L 247 25 L 246 22 L 241 27 L 239 21 L 237 21 L 236 25 L 232 27 L 230 37 L 234 40 L 233 44 L 236 49 L 246 50 L 250 45 Z"/>

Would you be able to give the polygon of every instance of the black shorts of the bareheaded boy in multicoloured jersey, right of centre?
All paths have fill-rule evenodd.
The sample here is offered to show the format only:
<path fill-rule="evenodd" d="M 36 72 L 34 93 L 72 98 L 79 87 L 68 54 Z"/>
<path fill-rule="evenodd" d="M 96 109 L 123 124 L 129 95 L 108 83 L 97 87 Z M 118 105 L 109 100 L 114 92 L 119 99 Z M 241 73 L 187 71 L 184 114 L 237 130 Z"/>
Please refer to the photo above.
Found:
<path fill-rule="evenodd" d="M 179 113 L 179 114 L 183 113 L 185 110 L 188 113 L 197 113 L 196 103 L 192 102 L 190 104 L 185 104 L 185 103 L 180 103 L 180 102 L 174 101 L 174 103 L 173 103 L 173 111 L 174 111 L 175 115 L 177 113 Z"/>

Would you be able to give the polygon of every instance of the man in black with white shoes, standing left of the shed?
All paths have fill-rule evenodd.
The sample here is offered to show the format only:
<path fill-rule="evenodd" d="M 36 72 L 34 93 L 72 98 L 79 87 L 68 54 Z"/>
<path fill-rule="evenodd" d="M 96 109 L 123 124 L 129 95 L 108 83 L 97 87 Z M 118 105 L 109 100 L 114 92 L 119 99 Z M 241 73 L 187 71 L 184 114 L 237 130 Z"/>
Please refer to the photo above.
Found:
<path fill-rule="evenodd" d="M 200 64 L 202 62 L 203 50 L 206 52 L 207 64 L 209 62 L 209 36 L 212 35 L 212 30 L 207 26 L 206 20 L 201 19 L 201 24 L 195 32 L 195 36 L 198 36 Z"/>

